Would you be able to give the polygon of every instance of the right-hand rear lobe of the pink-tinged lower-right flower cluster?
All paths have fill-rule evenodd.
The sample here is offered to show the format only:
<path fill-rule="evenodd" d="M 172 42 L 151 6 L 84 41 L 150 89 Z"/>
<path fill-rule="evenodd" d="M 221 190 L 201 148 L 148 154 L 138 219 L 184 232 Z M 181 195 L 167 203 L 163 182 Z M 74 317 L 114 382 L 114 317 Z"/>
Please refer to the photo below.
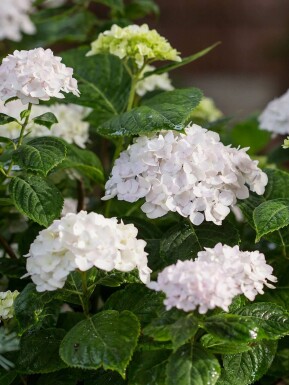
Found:
<path fill-rule="evenodd" d="M 197 261 L 220 264 L 237 283 L 239 294 L 244 294 L 250 301 L 254 301 L 257 294 L 264 294 L 264 285 L 274 288 L 268 281 L 277 281 L 272 275 L 273 268 L 267 265 L 264 254 L 258 250 L 241 251 L 239 246 L 230 247 L 218 243 L 212 249 L 200 251 Z"/>

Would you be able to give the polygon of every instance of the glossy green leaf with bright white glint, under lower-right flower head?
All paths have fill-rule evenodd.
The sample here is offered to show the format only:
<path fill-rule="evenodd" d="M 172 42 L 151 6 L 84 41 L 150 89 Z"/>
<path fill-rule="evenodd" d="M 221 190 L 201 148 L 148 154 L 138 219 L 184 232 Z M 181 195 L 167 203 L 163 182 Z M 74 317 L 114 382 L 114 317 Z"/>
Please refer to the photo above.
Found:
<path fill-rule="evenodd" d="M 214 337 L 229 342 L 252 342 L 264 337 L 258 321 L 234 314 L 208 317 L 204 322 L 204 328 Z"/>

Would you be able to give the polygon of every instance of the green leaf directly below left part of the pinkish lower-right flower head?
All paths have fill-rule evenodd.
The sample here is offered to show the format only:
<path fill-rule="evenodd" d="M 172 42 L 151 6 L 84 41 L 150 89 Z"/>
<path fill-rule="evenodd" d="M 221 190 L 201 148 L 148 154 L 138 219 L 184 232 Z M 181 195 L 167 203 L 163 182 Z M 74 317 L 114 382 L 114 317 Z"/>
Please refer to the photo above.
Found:
<path fill-rule="evenodd" d="M 191 339 L 198 330 L 198 320 L 193 314 L 184 315 L 183 312 L 173 310 L 165 312 L 153 320 L 143 330 L 145 335 L 156 341 L 172 341 L 176 350 Z"/>

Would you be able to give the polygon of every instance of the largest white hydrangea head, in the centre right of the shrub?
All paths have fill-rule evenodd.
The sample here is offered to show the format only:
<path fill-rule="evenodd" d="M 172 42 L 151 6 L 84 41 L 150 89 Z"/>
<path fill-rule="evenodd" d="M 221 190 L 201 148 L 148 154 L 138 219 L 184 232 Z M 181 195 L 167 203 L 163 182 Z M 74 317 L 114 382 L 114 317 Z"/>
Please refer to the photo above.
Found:
<path fill-rule="evenodd" d="M 220 225 L 237 198 L 248 198 L 247 185 L 264 193 L 268 178 L 257 165 L 246 149 L 224 146 L 218 134 L 194 124 L 185 133 L 137 138 L 116 160 L 102 199 L 145 198 L 149 218 L 173 211 L 195 225 L 204 219 Z"/>

